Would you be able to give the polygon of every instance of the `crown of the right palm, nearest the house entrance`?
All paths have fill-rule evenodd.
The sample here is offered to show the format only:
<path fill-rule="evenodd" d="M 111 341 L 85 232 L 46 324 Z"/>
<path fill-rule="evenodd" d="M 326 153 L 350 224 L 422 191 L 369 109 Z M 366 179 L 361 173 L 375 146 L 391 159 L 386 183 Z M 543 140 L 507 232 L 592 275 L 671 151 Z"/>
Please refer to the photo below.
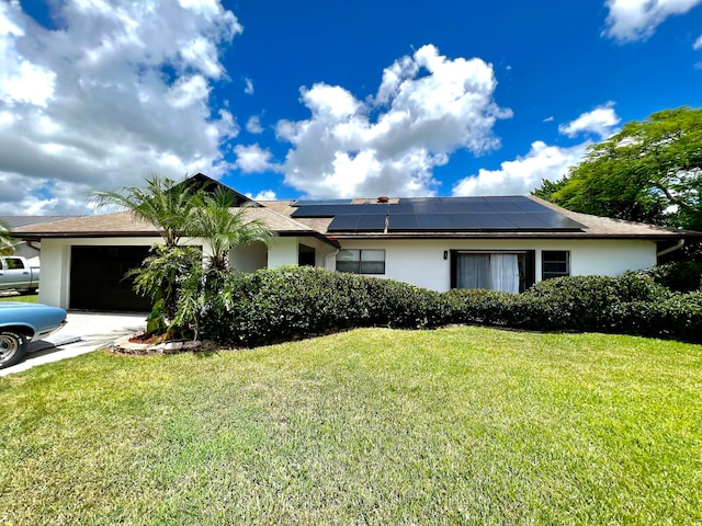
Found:
<path fill-rule="evenodd" d="M 225 273 L 229 270 L 229 251 L 241 244 L 270 243 L 271 230 L 260 220 L 246 220 L 249 207 L 234 208 L 234 197 L 222 187 L 214 193 L 200 193 L 194 198 L 196 213 L 189 232 L 204 240 L 211 250 L 207 267 Z"/>

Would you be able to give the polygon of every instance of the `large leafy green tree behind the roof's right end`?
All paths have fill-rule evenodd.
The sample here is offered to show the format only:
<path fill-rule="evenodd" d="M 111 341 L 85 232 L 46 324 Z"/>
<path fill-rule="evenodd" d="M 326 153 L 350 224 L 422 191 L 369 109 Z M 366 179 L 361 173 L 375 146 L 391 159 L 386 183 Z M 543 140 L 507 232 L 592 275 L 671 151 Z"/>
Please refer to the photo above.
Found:
<path fill-rule="evenodd" d="M 702 229 L 702 110 L 682 106 L 624 125 L 562 181 L 532 192 L 575 211 Z"/>

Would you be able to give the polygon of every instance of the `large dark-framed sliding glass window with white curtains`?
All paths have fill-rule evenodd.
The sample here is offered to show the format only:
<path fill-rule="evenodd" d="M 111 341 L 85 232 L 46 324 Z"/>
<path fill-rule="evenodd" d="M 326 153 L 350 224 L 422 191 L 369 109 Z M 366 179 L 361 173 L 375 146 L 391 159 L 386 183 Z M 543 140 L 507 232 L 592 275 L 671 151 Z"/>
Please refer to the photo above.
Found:
<path fill-rule="evenodd" d="M 534 251 L 451 251 L 451 286 L 523 293 L 534 283 Z"/>

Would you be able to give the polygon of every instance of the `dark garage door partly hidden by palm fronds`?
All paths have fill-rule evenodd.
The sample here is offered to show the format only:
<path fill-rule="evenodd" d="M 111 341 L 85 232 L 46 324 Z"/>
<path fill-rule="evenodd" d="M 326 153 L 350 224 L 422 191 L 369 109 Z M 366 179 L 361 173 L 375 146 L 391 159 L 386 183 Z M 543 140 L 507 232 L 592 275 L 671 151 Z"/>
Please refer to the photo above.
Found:
<path fill-rule="evenodd" d="M 149 311 L 148 298 L 137 295 L 127 271 L 141 264 L 148 247 L 71 247 L 70 308 Z"/>

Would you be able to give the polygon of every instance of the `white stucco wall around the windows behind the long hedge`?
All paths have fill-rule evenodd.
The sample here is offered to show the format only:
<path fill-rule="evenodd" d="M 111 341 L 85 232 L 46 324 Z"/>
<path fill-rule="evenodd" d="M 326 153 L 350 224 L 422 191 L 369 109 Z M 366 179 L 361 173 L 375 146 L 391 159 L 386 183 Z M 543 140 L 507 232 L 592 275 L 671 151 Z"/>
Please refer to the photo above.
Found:
<path fill-rule="evenodd" d="M 451 250 L 535 250 L 536 281 L 541 281 L 541 251 L 570 251 L 570 275 L 599 274 L 616 276 L 626 271 L 639 271 L 656 264 L 656 243 L 646 240 L 590 239 L 392 239 L 341 240 L 342 249 L 385 249 L 385 274 L 400 282 L 434 290 L 451 287 Z M 326 267 L 336 268 L 336 259 L 327 259 Z"/>

